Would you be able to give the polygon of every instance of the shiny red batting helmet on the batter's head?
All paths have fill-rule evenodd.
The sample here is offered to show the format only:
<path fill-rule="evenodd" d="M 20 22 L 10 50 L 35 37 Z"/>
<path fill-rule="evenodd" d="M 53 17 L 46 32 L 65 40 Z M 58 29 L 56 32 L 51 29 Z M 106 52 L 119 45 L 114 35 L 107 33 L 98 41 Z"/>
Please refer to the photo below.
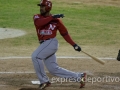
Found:
<path fill-rule="evenodd" d="M 52 8 L 52 2 L 50 0 L 41 0 L 40 4 L 37 4 L 38 6 L 45 6 L 46 11 L 50 11 Z"/>

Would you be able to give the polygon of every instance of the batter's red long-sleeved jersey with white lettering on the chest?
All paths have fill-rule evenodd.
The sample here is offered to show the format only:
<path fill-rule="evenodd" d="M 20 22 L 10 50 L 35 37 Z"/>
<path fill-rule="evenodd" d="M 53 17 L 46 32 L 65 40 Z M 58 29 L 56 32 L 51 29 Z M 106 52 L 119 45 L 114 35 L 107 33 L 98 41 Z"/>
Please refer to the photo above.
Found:
<path fill-rule="evenodd" d="M 33 16 L 33 20 L 39 41 L 56 37 L 58 30 L 68 43 L 75 44 L 60 19 L 53 18 L 52 15 L 45 17 L 37 14 Z"/>

